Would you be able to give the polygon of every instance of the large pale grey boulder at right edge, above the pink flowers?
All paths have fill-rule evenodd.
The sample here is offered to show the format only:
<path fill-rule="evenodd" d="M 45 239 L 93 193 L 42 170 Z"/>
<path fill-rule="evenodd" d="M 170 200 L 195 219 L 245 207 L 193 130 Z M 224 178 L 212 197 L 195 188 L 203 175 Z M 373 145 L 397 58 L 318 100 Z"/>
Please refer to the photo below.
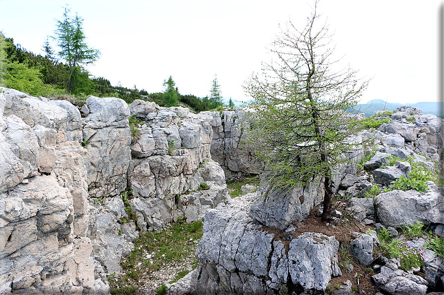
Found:
<path fill-rule="evenodd" d="M 414 224 L 444 224 L 444 196 L 437 192 L 394 190 L 375 197 L 378 220 L 392 227 Z"/>

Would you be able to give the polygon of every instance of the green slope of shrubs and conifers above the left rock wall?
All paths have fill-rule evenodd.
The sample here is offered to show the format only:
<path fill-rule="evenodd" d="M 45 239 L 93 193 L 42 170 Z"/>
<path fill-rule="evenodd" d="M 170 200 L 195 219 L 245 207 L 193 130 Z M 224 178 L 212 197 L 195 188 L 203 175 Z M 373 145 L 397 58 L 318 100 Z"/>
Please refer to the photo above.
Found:
<path fill-rule="evenodd" d="M 223 106 L 220 85 L 214 78 L 210 96 L 199 98 L 195 95 L 181 95 L 170 76 L 165 80 L 164 92 L 148 93 L 123 87 L 120 82 L 112 86 L 104 77 L 94 77 L 85 68 L 100 58 L 100 51 L 86 43 L 83 18 L 77 13 L 71 15 L 64 8 L 63 17 L 56 20 L 54 36 L 48 36 L 42 47 L 44 54 L 36 54 L 14 44 L 13 38 L 6 38 L 0 31 L 0 86 L 13 88 L 34 96 L 63 98 L 74 96 L 86 98 L 117 97 L 131 103 L 135 99 L 154 101 L 160 106 L 176 106 L 183 102 L 195 111 L 204 111 Z M 56 51 L 50 46 L 53 40 Z M 234 106 L 230 103 L 231 106 Z"/>

